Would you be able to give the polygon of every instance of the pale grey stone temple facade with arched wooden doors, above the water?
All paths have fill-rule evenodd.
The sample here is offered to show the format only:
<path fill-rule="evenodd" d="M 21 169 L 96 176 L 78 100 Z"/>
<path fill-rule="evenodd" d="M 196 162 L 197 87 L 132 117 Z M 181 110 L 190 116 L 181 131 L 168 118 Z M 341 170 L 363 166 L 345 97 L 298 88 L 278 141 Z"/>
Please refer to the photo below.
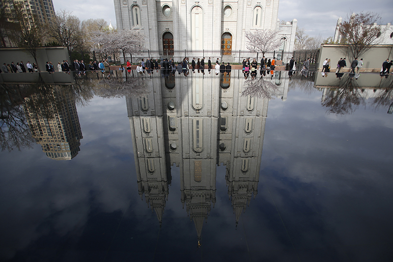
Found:
<path fill-rule="evenodd" d="M 278 30 L 293 51 L 297 20 L 280 25 L 279 0 L 114 0 L 118 30 L 141 30 L 146 50 L 247 50 L 246 31 Z M 279 51 L 279 50 L 277 50 Z"/>

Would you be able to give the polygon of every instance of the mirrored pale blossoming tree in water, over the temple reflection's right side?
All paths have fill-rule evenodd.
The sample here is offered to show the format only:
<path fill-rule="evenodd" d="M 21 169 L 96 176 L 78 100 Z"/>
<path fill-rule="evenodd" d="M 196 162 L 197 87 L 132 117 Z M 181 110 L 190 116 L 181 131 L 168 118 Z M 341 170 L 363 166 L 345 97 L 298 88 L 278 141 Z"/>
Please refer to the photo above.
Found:
<path fill-rule="evenodd" d="M 265 80 L 263 77 L 259 79 L 248 79 L 244 82 L 242 96 L 271 99 L 272 94 L 277 90 L 278 86 L 275 83 Z"/>

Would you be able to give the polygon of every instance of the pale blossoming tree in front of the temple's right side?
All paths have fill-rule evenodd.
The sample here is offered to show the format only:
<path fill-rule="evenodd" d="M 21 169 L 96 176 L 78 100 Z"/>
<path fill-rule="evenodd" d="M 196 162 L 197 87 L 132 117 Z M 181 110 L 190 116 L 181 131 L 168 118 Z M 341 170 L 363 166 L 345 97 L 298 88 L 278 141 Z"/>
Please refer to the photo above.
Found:
<path fill-rule="evenodd" d="M 247 49 L 253 52 L 266 52 L 276 50 L 281 46 L 280 37 L 275 30 L 262 29 L 255 32 L 246 32 Z"/>

